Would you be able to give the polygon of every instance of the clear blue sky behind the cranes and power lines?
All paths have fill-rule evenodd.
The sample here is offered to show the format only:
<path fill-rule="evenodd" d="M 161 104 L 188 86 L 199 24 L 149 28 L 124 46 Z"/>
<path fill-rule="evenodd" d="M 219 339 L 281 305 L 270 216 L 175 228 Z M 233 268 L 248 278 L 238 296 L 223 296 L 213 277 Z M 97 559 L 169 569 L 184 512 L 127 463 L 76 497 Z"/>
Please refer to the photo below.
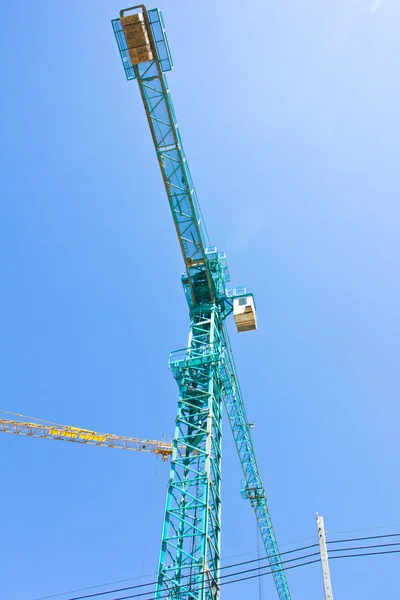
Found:
<path fill-rule="evenodd" d="M 281 548 L 315 536 L 316 511 L 329 532 L 400 523 L 398 2 L 158 6 L 211 241 L 257 302 L 256 333 L 230 328 Z M 188 316 L 110 25 L 121 8 L 0 9 L 0 408 L 160 438 L 173 432 L 167 362 Z M 232 562 L 256 556 L 257 533 L 224 432 Z M 0 472 L 2 600 L 156 570 L 168 466 L 155 457 L 3 434 Z M 335 594 L 392 597 L 399 556 L 332 561 Z M 293 600 L 323 597 L 319 565 L 288 578 Z M 222 597 L 258 598 L 258 583 Z"/>

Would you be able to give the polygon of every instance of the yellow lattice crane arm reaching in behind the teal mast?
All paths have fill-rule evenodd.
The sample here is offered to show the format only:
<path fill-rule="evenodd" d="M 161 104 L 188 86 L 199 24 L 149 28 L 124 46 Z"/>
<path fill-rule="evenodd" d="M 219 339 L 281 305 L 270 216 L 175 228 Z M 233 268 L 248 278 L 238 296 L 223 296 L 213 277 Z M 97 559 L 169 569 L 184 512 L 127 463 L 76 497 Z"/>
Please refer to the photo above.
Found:
<path fill-rule="evenodd" d="M 158 440 L 143 440 L 140 438 L 125 437 L 114 433 L 98 433 L 90 429 L 81 429 L 71 425 L 59 425 L 50 421 L 43 421 L 34 417 L 25 417 L 18 413 L 0 410 L 1 413 L 18 417 L 18 419 L 0 418 L 0 432 L 28 437 L 44 438 L 48 440 L 61 440 L 63 442 L 76 442 L 106 448 L 119 448 L 120 450 L 135 450 L 136 452 L 152 452 L 162 460 L 168 460 L 172 455 L 171 442 Z M 20 419 L 31 419 L 23 421 Z"/>

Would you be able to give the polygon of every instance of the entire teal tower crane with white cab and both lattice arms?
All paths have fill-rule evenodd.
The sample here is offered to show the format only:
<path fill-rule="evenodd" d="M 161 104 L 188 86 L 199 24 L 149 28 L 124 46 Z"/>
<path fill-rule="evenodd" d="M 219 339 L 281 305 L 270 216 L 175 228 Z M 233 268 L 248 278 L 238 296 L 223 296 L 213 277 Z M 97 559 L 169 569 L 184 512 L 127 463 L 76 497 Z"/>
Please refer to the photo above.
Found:
<path fill-rule="evenodd" d="M 227 289 L 225 254 L 211 246 L 182 145 L 165 73 L 173 67 L 162 14 L 139 5 L 112 21 L 126 78 L 136 79 L 164 181 L 185 271 L 187 347 L 170 355 L 179 388 L 155 599 L 220 596 L 221 420 L 228 415 L 245 485 L 280 600 L 290 600 L 267 497 L 250 435 L 226 327 L 257 328 L 245 288 Z"/>

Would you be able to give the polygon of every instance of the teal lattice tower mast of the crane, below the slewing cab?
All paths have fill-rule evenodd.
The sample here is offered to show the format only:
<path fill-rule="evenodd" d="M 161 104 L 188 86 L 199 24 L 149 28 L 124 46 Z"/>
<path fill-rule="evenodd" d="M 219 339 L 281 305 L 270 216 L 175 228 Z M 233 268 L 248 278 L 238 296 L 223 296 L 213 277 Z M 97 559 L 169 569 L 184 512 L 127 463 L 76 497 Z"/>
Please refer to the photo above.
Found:
<path fill-rule="evenodd" d="M 221 331 L 215 304 L 194 310 L 188 348 L 170 357 L 179 401 L 156 598 L 218 597 Z"/>

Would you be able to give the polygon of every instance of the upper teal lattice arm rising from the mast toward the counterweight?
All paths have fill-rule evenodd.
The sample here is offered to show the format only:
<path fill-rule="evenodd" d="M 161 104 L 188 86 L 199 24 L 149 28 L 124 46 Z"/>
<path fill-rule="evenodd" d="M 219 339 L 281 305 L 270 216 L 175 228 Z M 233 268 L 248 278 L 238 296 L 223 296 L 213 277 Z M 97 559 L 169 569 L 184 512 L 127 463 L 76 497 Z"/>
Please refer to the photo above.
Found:
<path fill-rule="evenodd" d="M 168 49 L 166 37 L 157 37 L 160 35 L 159 27 L 163 32 L 162 17 L 156 9 L 144 12 L 144 15 L 144 18 L 149 20 L 148 33 L 153 56 L 148 62 L 132 64 L 121 19 L 112 21 L 113 29 L 127 78 L 137 79 L 139 84 L 188 275 L 193 304 L 199 300 L 196 298 L 195 288 L 196 275 L 201 272 L 206 275 L 207 295 L 213 301 L 215 285 L 206 255 L 206 248 L 210 243 L 183 149 L 167 78 L 163 72 L 163 69 L 172 68 L 172 62 L 165 58 L 158 59 L 158 53 L 163 48 Z M 162 48 L 159 50 L 161 44 Z"/>

